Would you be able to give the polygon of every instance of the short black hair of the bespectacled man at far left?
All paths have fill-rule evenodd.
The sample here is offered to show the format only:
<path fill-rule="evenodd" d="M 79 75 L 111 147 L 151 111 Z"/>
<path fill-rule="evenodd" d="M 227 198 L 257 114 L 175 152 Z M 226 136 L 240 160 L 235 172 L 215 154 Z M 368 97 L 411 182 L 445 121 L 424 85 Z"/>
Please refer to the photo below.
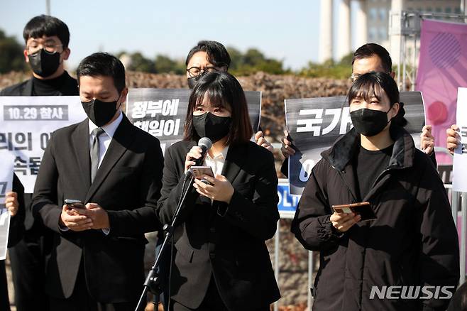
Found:
<path fill-rule="evenodd" d="M 70 43 L 70 31 L 68 31 L 67 24 L 53 16 L 35 16 L 24 26 L 23 38 L 25 42 L 29 38 L 42 38 L 43 36 L 57 36 L 62 42 L 63 48 L 68 48 L 68 43 Z"/>

